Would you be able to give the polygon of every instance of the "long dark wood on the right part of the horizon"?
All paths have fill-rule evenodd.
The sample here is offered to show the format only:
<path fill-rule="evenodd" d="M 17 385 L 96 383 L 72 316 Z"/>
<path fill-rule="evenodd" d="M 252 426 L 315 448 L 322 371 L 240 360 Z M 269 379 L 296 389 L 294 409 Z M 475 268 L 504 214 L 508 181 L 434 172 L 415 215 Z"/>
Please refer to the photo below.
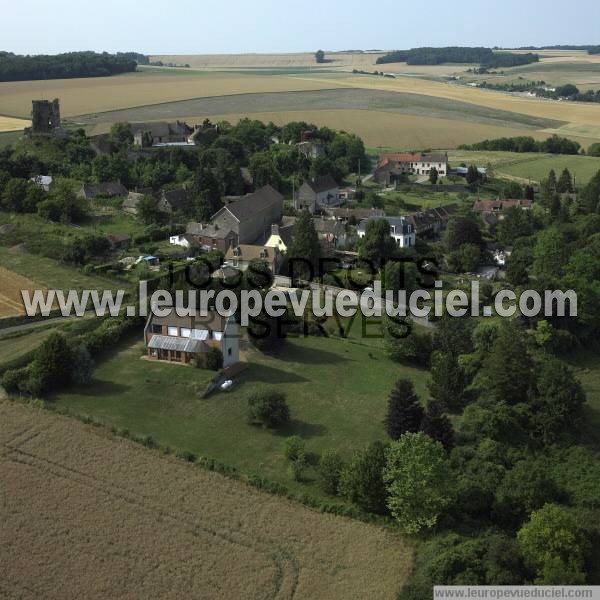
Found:
<path fill-rule="evenodd" d="M 393 50 L 377 59 L 377 64 L 405 62 L 409 65 L 440 65 L 444 63 L 479 63 L 486 68 L 516 67 L 538 62 L 537 54 L 494 52 L 491 48 L 448 46 L 445 48 L 412 48 Z"/>

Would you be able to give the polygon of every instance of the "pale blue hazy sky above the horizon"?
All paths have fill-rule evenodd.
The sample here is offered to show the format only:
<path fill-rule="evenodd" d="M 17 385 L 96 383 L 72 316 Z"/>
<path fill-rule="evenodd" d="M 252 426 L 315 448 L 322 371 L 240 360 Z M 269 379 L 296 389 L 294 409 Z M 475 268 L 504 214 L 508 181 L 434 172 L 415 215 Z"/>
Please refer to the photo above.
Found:
<path fill-rule="evenodd" d="M 408 7 L 408 8 L 407 8 Z M 0 50 L 271 53 L 416 46 L 600 44 L 600 0 L 21 0 L 2 9 Z"/>

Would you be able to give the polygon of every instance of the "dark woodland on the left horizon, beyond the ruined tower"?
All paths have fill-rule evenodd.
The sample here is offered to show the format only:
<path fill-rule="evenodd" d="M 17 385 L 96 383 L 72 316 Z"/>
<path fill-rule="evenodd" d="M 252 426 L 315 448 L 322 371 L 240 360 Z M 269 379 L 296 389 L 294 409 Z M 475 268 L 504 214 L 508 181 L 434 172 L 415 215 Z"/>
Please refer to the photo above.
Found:
<path fill-rule="evenodd" d="M 0 52 L 0 81 L 108 77 L 136 70 L 149 59 L 137 52 L 66 52 L 64 54 L 19 55 Z"/>

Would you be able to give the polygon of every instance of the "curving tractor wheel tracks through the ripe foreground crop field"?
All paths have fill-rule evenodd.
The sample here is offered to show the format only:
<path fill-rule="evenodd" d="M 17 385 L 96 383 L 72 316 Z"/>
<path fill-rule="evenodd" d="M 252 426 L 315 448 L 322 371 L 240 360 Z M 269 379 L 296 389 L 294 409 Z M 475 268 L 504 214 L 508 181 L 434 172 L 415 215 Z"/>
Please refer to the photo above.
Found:
<path fill-rule="evenodd" d="M 0 458 L 8 459 L 15 463 L 20 463 L 34 467 L 43 473 L 51 473 L 56 478 L 66 479 L 71 483 L 82 486 L 90 486 L 98 491 L 122 500 L 136 509 L 143 510 L 153 514 L 158 519 L 168 519 L 176 527 L 197 538 L 206 537 L 208 539 L 218 537 L 226 543 L 242 546 L 252 552 L 259 552 L 265 558 L 273 562 L 275 566 L 276 579 L 274 581 L 273 595 L 269 596 L 277 599 L 294 598 L 300 567 L 296 557 L 282 548 L 260 539 L 251 539 L 249 536 L 235 531 L 233 529 L 223 533 L 214 527 L 209 527 L 198 518 L 197 514 L 186 510 L 165 510 L 160 505 L 153 502 L 152 498 L 136 493 L 109 481 L 95 477 L 89 473 L 67 467 L 57 461 L 53 461 L 32 452 L 22 449 L 22 446 L 41 435 L 47 428 L 27 428 L 15 435 L 9 442 L 1 444 L 3 451 Z M 223 525 L 220 524 L 220 529 Z M 31 590 L 27 590 L 31 591 Z"/>

